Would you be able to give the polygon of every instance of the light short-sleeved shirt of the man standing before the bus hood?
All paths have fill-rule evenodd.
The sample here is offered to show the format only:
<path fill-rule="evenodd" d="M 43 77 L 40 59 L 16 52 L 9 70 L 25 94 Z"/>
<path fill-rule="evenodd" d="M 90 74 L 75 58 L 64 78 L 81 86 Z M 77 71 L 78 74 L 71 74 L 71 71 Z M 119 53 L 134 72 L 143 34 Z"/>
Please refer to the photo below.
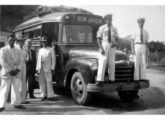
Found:
<path fill-rule="evenodd" d="M 116 38 L 118 38 L 118 32 L 117 29 L 113 26 L 110 27 L 111 29 L 111 41 L 115 42 Z M 99 30 L 97 31 L 97 38 L 101 38 L 102 41 L 108 42 L 108 25 L 102 25 L 100 26 Z"/>

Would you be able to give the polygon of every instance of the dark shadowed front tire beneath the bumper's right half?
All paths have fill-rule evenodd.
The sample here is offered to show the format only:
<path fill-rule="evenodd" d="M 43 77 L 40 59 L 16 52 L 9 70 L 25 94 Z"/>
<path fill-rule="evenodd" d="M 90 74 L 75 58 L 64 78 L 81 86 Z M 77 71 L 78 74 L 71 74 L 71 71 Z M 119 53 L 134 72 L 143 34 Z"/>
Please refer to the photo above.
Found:
<path fill-rule="evenodd" d="M 138 90 L 118 91 L 118 95 L 123 102 L 132 102 L 138 98 Z"/>

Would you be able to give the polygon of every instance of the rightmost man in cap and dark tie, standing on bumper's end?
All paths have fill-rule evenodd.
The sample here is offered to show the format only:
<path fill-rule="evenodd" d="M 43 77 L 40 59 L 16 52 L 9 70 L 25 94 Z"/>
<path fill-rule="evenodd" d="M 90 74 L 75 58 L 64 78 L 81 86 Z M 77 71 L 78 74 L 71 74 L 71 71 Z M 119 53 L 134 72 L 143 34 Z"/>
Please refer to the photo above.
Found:
<path fill-rule="evenodd" d="M 146 79 L 146 47 L 149 39 L 148 32 L 143 28 L 145 19 L 137 19 L 139 29 L 132 36 L 133 53 L 135 54 L 135 73 L 134 80 Z"/>

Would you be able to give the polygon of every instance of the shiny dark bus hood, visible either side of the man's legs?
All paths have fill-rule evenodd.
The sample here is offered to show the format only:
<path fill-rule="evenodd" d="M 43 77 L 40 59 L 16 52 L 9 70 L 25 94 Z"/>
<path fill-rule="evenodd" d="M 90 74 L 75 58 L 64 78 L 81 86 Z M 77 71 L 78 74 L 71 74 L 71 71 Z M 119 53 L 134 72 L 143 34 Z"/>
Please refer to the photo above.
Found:
<path fill-rule="evenodd" d="M 115 59 L 116 61 L 119 60 L 128 60 L 127 55 L 119 50 L 115 51 Z M 98 47 L 95 48 L 79 48 L 79 49 L 72 49 L 69 52 L 70 57 L 81 57 L 81 58 L 93 58 L 93 59 L 98 59 L 100 55 L 100 51 Z"/>

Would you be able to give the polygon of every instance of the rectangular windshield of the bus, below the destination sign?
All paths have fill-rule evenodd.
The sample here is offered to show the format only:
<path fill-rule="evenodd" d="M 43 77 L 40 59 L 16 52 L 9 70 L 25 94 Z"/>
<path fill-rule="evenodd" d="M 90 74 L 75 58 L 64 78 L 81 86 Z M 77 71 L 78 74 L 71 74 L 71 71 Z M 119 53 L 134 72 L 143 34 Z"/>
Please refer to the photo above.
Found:
<path fill-rule="evenodd" d="M 93 43 L 92 26 L 65 25 L 67 43 Z"/>

